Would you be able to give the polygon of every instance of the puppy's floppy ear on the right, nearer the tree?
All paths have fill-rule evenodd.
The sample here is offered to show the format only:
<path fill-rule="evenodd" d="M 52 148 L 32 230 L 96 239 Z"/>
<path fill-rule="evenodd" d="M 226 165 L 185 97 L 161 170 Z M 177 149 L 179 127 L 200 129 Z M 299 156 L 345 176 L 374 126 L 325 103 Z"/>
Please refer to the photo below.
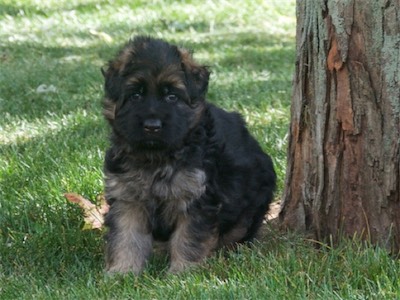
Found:
<path fill-rule="evenodd" d="M 192 53 L 185 49 L 179 49 L 182 58 L 182 68 L 186 75 L 186 84 L 190 98 L 193 102 L 203 101 L 208 88 L 210 71 L 206 66 L 197 64 Z"/>

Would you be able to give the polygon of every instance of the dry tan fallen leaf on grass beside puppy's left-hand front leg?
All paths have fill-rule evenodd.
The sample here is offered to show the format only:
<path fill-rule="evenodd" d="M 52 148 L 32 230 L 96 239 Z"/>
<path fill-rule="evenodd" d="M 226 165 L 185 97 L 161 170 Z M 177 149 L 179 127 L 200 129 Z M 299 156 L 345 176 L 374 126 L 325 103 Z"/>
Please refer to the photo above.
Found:
<path fill-rule="evenodd" d="M 85 222 L 83 230 L 102 229 L 104 215 L 109 210 L 109 205 L 106 203 L 104 195 L 97 197 L 98 202 L 100 202 L 99 205 L 95 205 L 90 200 L 76 193 L 66 193 L 64 196 L 69 202 L 76 203 L 82 208 Z"/>

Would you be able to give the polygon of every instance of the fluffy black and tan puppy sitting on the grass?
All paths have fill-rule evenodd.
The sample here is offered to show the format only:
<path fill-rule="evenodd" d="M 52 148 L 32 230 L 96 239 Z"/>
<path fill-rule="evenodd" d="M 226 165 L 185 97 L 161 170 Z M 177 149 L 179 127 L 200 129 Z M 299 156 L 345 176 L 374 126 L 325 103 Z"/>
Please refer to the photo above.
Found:
<path fill-rule="evenodd" d="M 140 274 L 153 241 L 167 243 L 170 272 L 251 241 L 276 175 L 242 118 L 206 102 L 208 68 L 139 36 L 103 74 L 107 270 Z"/>

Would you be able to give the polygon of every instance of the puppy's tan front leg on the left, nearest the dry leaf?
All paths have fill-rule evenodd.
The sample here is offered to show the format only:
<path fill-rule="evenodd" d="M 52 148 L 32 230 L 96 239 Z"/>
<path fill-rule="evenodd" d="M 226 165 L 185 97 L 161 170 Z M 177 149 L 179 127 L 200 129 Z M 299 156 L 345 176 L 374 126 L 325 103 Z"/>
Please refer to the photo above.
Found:
<path fill-rule="evenodd" d="M 140 274 L 152 251 L 147 215 L 131 202 L 115 201 L 106 218 L 106 270 Z"/>

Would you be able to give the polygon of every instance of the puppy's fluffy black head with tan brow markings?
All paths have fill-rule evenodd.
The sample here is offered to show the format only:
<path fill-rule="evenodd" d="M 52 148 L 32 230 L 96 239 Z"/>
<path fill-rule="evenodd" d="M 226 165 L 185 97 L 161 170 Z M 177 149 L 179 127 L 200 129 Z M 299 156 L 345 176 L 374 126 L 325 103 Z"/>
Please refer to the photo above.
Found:
<path fill-rule="evenodd" d="M 132 149 L 179 147 L 201 118 L 209 72 L 184 49 L 137 37 L 103 75 L 104 116 Z"/>

